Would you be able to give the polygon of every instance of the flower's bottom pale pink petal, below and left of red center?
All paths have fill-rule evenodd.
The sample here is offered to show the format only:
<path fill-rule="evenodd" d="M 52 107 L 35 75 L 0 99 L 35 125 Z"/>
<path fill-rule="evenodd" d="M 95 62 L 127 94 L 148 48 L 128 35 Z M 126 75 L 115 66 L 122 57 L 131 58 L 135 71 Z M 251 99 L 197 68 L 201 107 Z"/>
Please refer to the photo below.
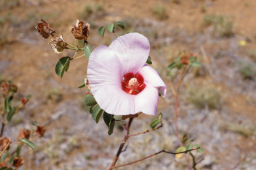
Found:
<path fill-rule="evenodd" d="M 93 96 L 101 109 L 109 114 L 137 114 L 135 112 L 135 95 L 127 94 L 120 88 L 103 86 Z"/>

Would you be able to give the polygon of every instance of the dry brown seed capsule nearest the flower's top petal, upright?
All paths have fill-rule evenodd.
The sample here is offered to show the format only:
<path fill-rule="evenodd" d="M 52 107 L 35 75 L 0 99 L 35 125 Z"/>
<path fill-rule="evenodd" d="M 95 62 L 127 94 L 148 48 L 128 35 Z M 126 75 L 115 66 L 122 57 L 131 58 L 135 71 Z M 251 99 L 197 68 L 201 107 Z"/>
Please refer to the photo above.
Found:
<path fill-rule="evenodd" d="M 74 26 L 73 29 L 71 29 L 71 33 L 74 35 L 75 39 L 87 40 L 89 37 L 89 29 L 89 23 L 85 24 L 83 23 L 83 21 L 77 19 L 77 24 Z"/>

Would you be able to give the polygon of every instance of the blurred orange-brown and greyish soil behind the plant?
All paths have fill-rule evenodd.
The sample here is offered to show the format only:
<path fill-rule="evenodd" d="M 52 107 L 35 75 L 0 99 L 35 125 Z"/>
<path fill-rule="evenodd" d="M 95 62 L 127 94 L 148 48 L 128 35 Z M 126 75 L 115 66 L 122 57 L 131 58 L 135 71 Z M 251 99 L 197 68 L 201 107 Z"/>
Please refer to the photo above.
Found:
<path fill-rule="evenodd" d="M 173 131 L 174 97 L 169 88 L 167 66 L 183 50 L 197 52 L 201 66 L 192 68 L 181 86 L 178 126 L 192 144 L 203 147 L 197 169 L 236 169 L 256 167 L 256 1 L 255 0 L 163 0 L 163 1 L 0 1 L 0 76 L 17 84 L 17 98 L 31 94 L 24 110 L 13 117 L 5 136 L 17 141 L 19 130 L 37 121 L 46 128 L 45 137 L 34 141 L 32 151 L 23 147 L 25 159 L 20 169 L 107 169 L 123 131 L 117 125 L 113 135 L 107 126 L 91 119 L 84 99 L 85 88 L 77 88 L 86 76 L 87 59 L 72 60 L 69 72 L 61 79 L 55 64 L 73 50 L 55 54 L 35 30 L 45 19 L 65 41 L 82 46 L 73 39 L 71 28 L 80 19 L 91 24 L 89 44 L 95 49 L 109 45 L 115 35 L 97 34 L 101 25 L 117 21 L 125 30 L 118 35 L 137 32 L 151 43 L 153 68 L 167 84 L 167 97 L 160 98 L 163 128 L 131 137 L 129 147 L 117 165 L 135 161 L 161 149 L 175 151 L 179 143 Z M 81 53 L 82 54 L 82 53 Z M 175 76 L 175 72 L 173 74 Z M 149 129 L 152 116 L 139 116 L 131 133 Z M 15 144 L 12 144 L 15 146 Z M 184 157 L 159 154 L 119 169 L 187 169 Z"/>

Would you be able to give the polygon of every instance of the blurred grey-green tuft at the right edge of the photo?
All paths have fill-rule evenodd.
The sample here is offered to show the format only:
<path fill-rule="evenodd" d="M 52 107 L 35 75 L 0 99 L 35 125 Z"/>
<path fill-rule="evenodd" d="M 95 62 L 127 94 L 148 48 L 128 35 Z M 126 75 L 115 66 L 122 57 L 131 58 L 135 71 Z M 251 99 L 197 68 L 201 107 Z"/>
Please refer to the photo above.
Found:
<path fill-rule="evenodd" d="M 239 70 L 244 79 L 251 79 L 256 74 L 255 67 L 251 62 L 239 62 Z"/>

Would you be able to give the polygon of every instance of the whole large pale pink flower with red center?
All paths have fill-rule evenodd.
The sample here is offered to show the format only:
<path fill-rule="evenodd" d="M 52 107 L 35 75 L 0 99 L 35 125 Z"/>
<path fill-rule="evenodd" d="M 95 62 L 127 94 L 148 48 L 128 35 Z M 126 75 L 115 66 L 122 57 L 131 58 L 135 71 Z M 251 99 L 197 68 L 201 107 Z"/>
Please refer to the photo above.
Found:
<path fill-rule="evenodd" d="M 87 78 L 95 100 L 105 112 L 157 115 L 158 88 L 165 97 L 166 86 L 158 72 L 145 64 L 149 49 L 146 37 L 129 33 L 110 46 L 93 50 Z"/>

